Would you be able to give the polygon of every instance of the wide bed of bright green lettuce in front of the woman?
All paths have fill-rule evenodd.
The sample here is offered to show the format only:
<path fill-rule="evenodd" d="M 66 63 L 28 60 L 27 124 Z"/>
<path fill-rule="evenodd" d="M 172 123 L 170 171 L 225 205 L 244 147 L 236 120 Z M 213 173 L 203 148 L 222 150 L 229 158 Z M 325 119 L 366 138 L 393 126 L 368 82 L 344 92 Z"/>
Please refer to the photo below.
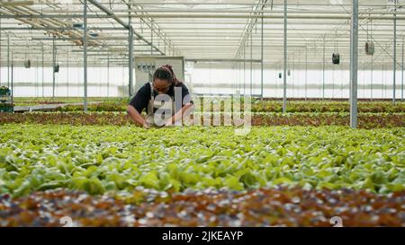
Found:
<path fill-rule="evenodd" d="M 54 188 L 131 192 L 138 186 L 243 190 L 276 185 L 405 189 L 404 127 L 71 127 L 0 130 L 0 193 Z"/>

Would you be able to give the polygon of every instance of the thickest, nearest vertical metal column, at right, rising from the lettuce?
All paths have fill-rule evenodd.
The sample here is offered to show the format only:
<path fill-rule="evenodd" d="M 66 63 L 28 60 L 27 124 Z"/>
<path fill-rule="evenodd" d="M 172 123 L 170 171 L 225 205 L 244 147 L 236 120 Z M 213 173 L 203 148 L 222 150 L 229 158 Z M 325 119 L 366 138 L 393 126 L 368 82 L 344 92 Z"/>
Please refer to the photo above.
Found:
<path fill-rule="evenodd" d="M 358 0 L 352 0 L 350 35 L 350 127 L 357 127 Z"/>

